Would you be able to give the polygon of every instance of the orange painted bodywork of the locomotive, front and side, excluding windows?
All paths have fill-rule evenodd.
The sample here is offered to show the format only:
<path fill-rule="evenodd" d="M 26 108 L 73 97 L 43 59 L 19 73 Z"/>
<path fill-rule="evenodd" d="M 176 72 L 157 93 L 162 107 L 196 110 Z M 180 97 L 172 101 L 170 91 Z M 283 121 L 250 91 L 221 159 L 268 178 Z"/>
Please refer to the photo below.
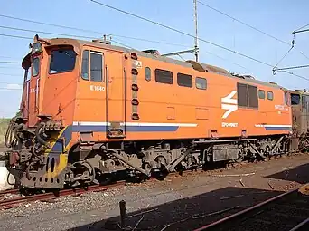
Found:
<path fill-rule="evenodd" d="M 231 76 L 226 71 L 211 66 L 211 71 L 199 72 L 196 69 L 201 68 L 201 64 L 193 63 L 196 65 L 194 69 L 191 63 L 176 62 L 170 58 L 108 44 L 74 39 L 51 39 L 48 42 L 49 45 L 42 44 L 40 74 L 32 77 L 29 83 L 28 126 L 33 127 L 38 122 L 39 115 L 61 120 L 64 126 L 72 126 L 70 147 L 80 140 L 79 132 L 85 124 L 88 127 L 84 127 L 89 130 L 94 128 L 94 141 L 110 140 L 107 136 L 107 122 L 123 124 L 125 136 L 116 140 L 289 134 L 285 126 L 292 124 L 291 108 L 286 104 L 285 90 L 276 84 Z M 53 49 L 58 49 L 58 45 L 71 46 L 76 51 L 75 68 L 71 72 L 50 74 L 50 53 Z M 80 77 L 84 50 L 103 53 L 102 82 L 86 81 Z M 139 120 L 132 119 L 132 84 L 135 84 L 132 68 L 136 65 L 132 52 L 137 54 L 138 62 L 136 85 L 139 104 L 136 107 Z M 145 67 L 151 70 L 150 81 L 145 79 Z M 173 84 L 155 82 L 156 68 L 173 72 Z M 192 88 L 177 84 L 178 72 L 192 75 Z M 195 87 L 196 77 L 207 79 L 206 90 Z M 257 86 L 266 94 L 267 91 L 273 91 L 274 100 L 267 100 L 266 95 L 266 99 L 258 99 L 258 109 L 240 108 L 237 106 L 238 82 Z M 28 105 L 24 94 L 25 92 L 22 105 Z M 232 105 L 235 110 L 228 113 L 224 104 Z M 153 129 L 154 126 L 162 130 L 146 130 Z"/>

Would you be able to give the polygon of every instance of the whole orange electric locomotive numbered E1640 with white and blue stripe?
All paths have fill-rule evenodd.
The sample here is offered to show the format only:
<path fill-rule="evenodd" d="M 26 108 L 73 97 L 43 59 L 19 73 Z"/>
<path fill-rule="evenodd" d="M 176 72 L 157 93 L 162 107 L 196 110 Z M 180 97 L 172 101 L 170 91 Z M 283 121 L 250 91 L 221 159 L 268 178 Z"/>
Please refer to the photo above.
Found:
<path fill-rule="evenodd" d="M 100 183 L 117 172 L 150 176 L 289 149 L 290 97 L 276 83 L 153 50 L 37 35 L 23 68 L 22 116 L 12 120 L 6 143 L 25 188 Z"/>

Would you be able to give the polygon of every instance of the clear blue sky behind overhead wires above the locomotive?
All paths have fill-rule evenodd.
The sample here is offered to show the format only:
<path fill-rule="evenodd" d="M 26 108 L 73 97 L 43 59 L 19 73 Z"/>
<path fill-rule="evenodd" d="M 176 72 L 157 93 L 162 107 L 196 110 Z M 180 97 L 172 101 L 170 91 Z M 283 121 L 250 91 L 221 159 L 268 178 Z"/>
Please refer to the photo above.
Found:
<path fill-rule="evenodd" d="M 171 26 L 186 34 L 194 34 L 195 32 L 193 0 L 96 1 Z M 202 40 L 210 42 L 199 41 L 199 61 L 201 63 L 220 66 L 230 72 L 250 74 L 258 80 L 276 82 L 288 89 L 309 89 L 309 81 L 307 80 L 285 72 L 277 72 L 276 75 L 272 72 L 272 66 L 275 66 L 291 48 L 292 32 L 309 24 L 309 1 L 200 0 L 198 2 L 198 36 Z M 237 20 L 201 5 L 200 2 L 229 14 L 276 39 L 240 24 Z M 45 24 L 14 20 L 5 18 L 3 15 Z M 46 24 L 58 24 L 92 32 Z M 40 33 L 12 30 L 7 27 Z M 309 29 L 309 26 L 305 28 Z M 48 33 L 68 35 L 60 36 Z M 102 37 L 103 34 L 113 34 L 112 43 L 114 44 L 123 43 L 137 50 L 156 49 L 160 53 L 192 49 L 194 45 L 194 40 L 190 36 L 173 32 L 156 24 L 150 24 L 136 17 L 98 5 L 90 0 L 0 0 L 0 118 L 12 117 L 18 111 L 22 94 L 22 87 L 18 84 L 23 84 L 21 64 L 4 62 L 22 62 L 23 57 L 29 52 L 29 43 L 33 42 L 32 39 L 27 38 L 33 38 L 35 34 L 44 38 L 74 36 L 98 38 Z M 24 38 L 8 37 L 7 35 Z M 125 38 L 124 36 L 142 40 Z M 295 48 L 286 55 L 286 58 L 277 67 L 309 64 L 308 42 L 309 32 L 296 34 Z M 236 53 L 221 49 L 211 43 L 218 44 Z M 269 63 L 271 66 L 257 63 L 237 53 Z M 173 58 L 194 60 L 194 54 L 188 53 L 183 54 L 182 58 L 178 56 Z M 290 72 L 309 79 L 309 68 L 290 70 Z"/>

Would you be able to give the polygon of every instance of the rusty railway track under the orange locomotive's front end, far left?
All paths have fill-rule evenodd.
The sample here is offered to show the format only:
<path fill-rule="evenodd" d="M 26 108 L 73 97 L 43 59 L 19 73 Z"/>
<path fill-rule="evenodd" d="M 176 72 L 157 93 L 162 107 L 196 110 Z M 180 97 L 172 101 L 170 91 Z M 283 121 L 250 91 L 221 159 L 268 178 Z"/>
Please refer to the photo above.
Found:
<path fill-rule="evenodd" d="M 74 189 L 63 189 L 55 192 L 49 192 L 49 193 L 42 193 L 37 195 L 31 195 L 31 196 L 24 196 L 24 197 L 14 197 L 10 199 L 4 199 L 0 201 L 0 209 L 8 209 L 12 207 L 17 207 L 23 203 L 29 203 L 37 200 L 48 200 L 48 199 L 55 199 L 59 197 L 64 196 L 70 196 L 70 195 L 79 195 L 85 192 L 99 192 L 107 190 L 108 188 L 115 188 L 117 186 L 125 185 L 125 181 L 118 181 L 115 184 L 107 185 L 107 186 L 89 186 L 88 188 L 74 188 Z M 14 191 L 15 193 L 18 193 L 18 190 L 12 189 L 12 190 L 6 190 L 6 192 L 3 192 L 4 194 L 7 194 L 7 191 Z"/>

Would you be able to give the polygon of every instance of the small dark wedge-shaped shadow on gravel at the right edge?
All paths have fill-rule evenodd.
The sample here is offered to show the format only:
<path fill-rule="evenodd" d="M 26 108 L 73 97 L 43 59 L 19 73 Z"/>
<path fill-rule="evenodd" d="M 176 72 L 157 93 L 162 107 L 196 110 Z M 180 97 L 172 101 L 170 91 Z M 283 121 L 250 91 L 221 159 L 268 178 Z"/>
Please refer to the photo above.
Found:
<path fill-rule="evenodd" d="M 296 168 L 284 168 L 282 171 L 268 175 L 265 178 L 283 179 L 305 184 L 309 182 L 309 164 L 300 165 Z"/>

